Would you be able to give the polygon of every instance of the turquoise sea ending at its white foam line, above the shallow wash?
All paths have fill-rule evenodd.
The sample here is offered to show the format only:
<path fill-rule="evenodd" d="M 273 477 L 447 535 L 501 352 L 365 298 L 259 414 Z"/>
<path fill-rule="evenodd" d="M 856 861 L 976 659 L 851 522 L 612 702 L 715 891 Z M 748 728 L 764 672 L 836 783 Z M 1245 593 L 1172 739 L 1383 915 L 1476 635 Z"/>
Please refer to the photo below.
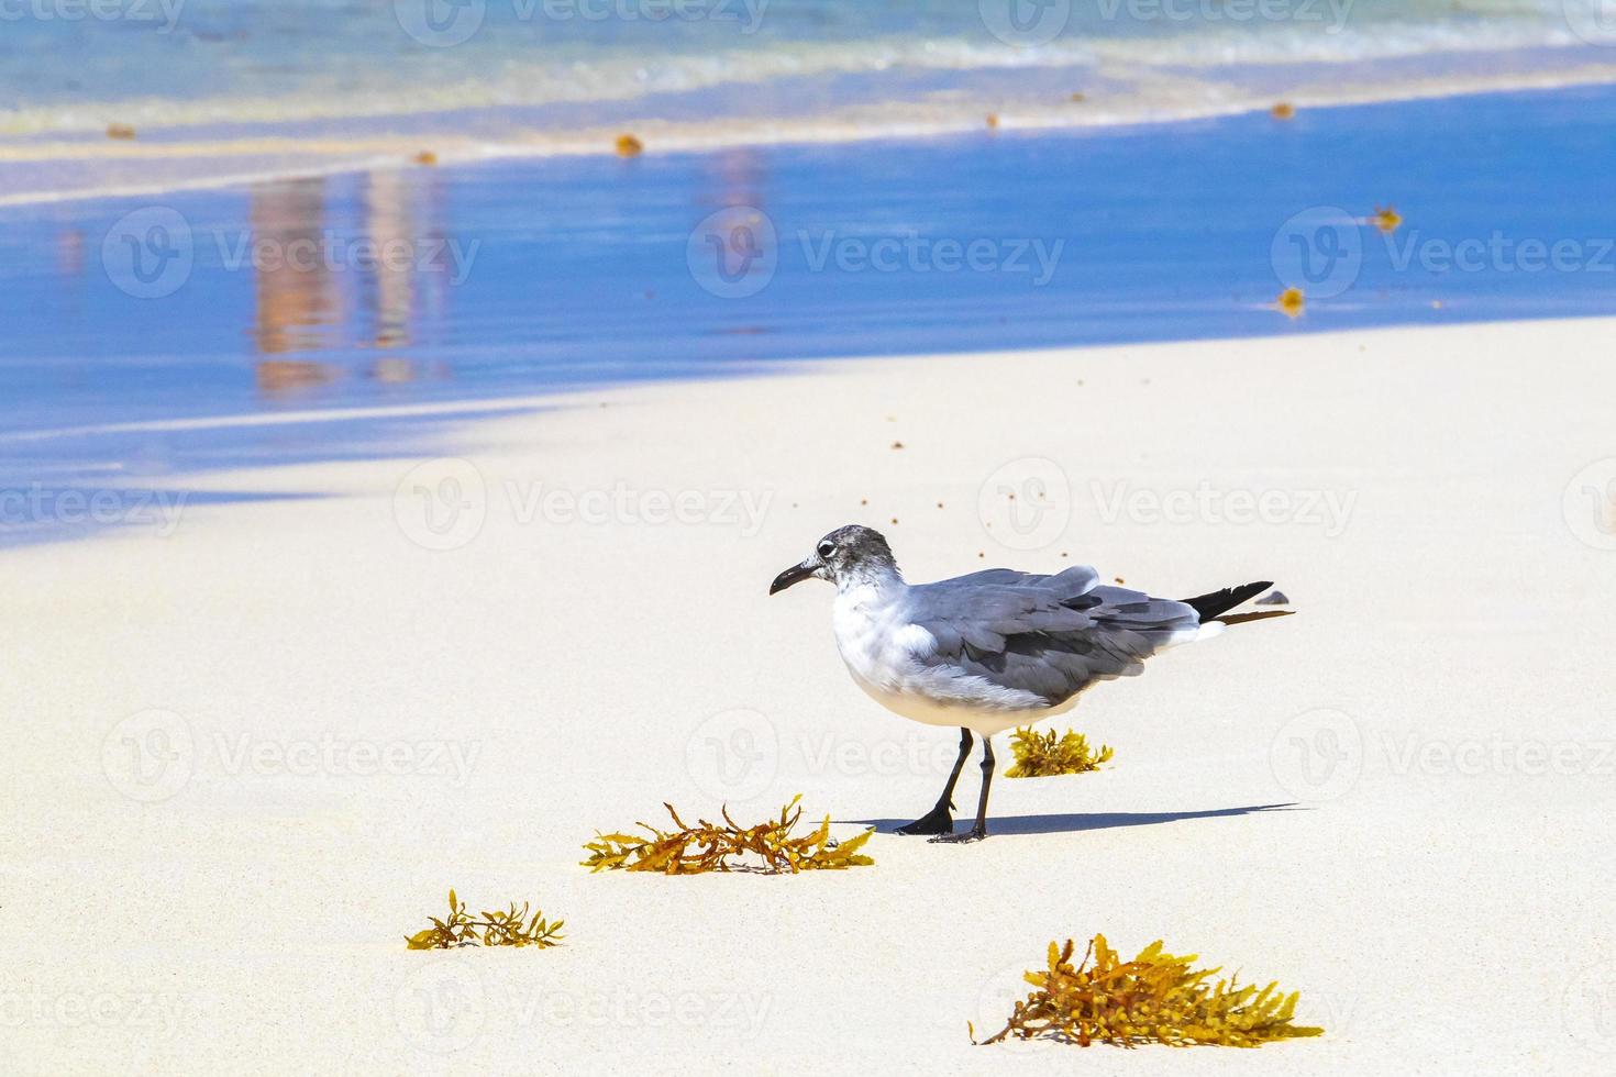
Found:
<path fill-rule="evenodd" d="M 402 115 L 908 68 L 1138 66 L 1149 94 L 1167 71 L 1576 48 L 1603 27 L 1600 0 L 1265 0 L 1267 18 L 1199 0 L 680 0 L 664 18 L 656 0 L 57 6 L 0 11 L 0 132 L 99 131 L 128 105 L 171 124 Z"/>

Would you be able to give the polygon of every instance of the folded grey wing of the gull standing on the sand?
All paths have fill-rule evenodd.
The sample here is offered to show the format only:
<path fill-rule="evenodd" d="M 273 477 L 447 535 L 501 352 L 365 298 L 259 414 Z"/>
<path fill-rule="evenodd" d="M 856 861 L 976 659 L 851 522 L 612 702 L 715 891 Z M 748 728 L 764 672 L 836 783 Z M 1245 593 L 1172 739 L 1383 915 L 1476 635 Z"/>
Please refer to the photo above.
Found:
<path fill-rule="evenodd" d="M 910 588 L 910 620 L 937 639 L 926 665 L 953 667 L 1055 706 L 1097 680 L 1133 677 L 1144 659 L 1199 628 L 1196 610 L 1143 591 L 1099 586 L 1092 568 L 1054 576 L 991 568 Z"/>

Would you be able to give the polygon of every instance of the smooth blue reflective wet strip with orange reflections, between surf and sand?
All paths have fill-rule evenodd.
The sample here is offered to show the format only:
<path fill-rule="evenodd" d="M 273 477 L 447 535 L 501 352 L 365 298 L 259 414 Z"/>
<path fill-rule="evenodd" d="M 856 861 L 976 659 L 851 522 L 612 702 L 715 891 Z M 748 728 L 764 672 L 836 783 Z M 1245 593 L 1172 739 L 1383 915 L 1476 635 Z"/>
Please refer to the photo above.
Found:
<path fill-rule="evenodd" d="M 0 481 L 419 452 L 443 417 L 61 433 L 73 428 L 486 400 L 816 357 L 1616 313 L 1616 260 L 1601 252 L 1616 207 L 1595 197 L 1613 150 L 1616 90 L 1587 89 L 1288 123 L 498 161 L 5 210 Z M 1351 287 L 1322 295 L 1340 284 L 1325 257 L 1346 229 L 1304 229 L 1312 279 L 1281 279 L 1273 252 L 1291 245 L 1293 215 L 1367 216 L 1385 203 L 1403 216 L 1395 245 L 1353 224 Z M 175 215 L 165 220 L 189 233 L 194 258 L 171 294 L 142 299 L 118 221 L 152 212 Z M 774 239 L 753 260 L 764 271 L 739 284 L 716 274 L 713 233 L 698 228 L 714 212 L 743 215 L 721 221 L 721 244 L 751 221 L 743 247 L 766 218 Z M 1580 262 L 1396 265 L 1404 249 L 1493 236 L 1572 242 Z M 415 257 L 452 244 L 465 257 L 231 265 L 259 239 L 283 250 L 391 241 Z M 923 254 L 898 254 L 890 271 L 835 255 L 814 265 L 827 241 L 855 255 L 882 244 Z M 992 255 L 983 268 L 928 268 L 973 242 Z M 1031 254 L 1025 271 L 1010 265 L 1057 245 L 1047 279 Z M 730 294 L 758 273 L 755 294 Z M 1319 295 L 1296 320 L 1272 305 L 1293 283 Z"/>

